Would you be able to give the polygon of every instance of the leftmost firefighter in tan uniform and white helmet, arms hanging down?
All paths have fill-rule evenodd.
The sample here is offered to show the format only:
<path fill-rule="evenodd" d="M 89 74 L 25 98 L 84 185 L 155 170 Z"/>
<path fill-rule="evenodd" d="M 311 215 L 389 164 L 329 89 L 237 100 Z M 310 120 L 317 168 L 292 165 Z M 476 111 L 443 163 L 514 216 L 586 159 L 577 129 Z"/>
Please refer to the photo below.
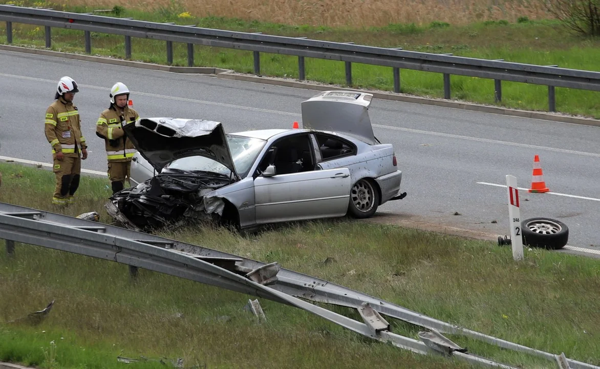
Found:
<path fill-rule="evenodd" d="M 81 132 L 81 121 L 73 98 L 79 92 L 73 78 L 64 76 L 58 81 L 55 102 L 46 109 L 44 132 L 52 146 L 56 174 L 54 204 L 72 203 L 79 187 L 81 160 L 88 157 L 88 145 Z"/>

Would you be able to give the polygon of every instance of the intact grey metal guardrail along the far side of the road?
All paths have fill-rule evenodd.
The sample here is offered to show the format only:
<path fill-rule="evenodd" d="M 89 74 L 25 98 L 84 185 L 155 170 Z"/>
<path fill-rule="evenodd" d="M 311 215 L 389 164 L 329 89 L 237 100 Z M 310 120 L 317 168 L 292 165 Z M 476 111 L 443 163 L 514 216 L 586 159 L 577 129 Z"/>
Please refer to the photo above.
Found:
<path fill-rule="evenodd" d="M 494 80 L 494 99 L 502 100 L 502 81 L 523 82 L 548 86 L 548 110 L 556 111 L 555 87 L 600 91 L 600 72 L 565 69 L 557 66 L 511 63 L 508 61 L 466 58 L 452 54 L 436 54 L 310 40 L 305 37 L 264 35 L 260 32 L 235 32 L 200 28 L 173 23 L 156 23 L 99 16 L 92 13 L 68 13 L 51 9 L 0 5 L 0 20 L 7 25 L 7 42 L 13 42 L 13 23 L 42 25 L 46 47 L 52 46 L 51 28 L 77 29 L 84 32 L 85 52 L 91 53 L 91 32 L 125 36 L 125 58 L 131 58 L 131 37 L 166 41 L 167 63 L 173 63 L 173 42 L 187 43 L 188 66 L 194 65 L 194 44 L 254 53 L 254 73 L 260 75 L 260 52 L 298 56 L 299 79 L 305 79 L 304 58 L 343 61 L 346 83 L 352 85 L 352 63 L 392 67 L 394 92 L 400 92 L 400 69 L 420 70 L 443 74 L 444 97 L 451 98 L 451 75 L 471 76 Z"/>

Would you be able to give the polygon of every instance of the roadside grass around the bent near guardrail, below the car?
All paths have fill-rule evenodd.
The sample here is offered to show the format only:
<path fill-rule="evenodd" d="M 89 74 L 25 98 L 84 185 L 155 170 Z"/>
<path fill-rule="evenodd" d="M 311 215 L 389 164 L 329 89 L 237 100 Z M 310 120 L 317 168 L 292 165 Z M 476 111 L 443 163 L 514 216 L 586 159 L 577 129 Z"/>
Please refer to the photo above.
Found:
<path fill-rule="evenodd" d="M 0 201 L 68 215 L 103 210 L 104 178 L 83 177 L 75 206 L 50 203 L 53 174 L 0 163 Z M 181 228 L 161 235 L 328 279 L 475 331 L 572 359 L 600 364 L 600 260 L 551 251 L 525 252 L 392 225 L 304 222 L 239 236 L 221 228 Z M 332 258 L 332 263 L 323 263 Z M 259 299 L 267 322 L 243 310 L 256 297 L 106 260 L 17 243 L 0 252 L 0 361 L 53 368 L 112 368 L 129 358 L 184 358 L 185 367 L 466 368 L 451 359 L 413 355 L 353 334 L 319 317 Z M 56 299 L 38 326 L 8 324 Z M 325 306 L 325 305 L 322 305 Z M 360 320 L 355 311 L 331 307 Z M 418 339 L 418 327 L 389 319 Z M 469 351 L 506 364 L 547 361 L 450 336 Z M 44 350 L 56 343 L 52 364 Z M 398 364 L 402 363 L 402 364 Z M 51 365 L 52 364 L 52 365 Z M 146 363 L 156 365 L 155 363 Z M 139 367 L 143 366 L 137 364 Z M 155 366 L 154 366 L 155 367 Z"/>

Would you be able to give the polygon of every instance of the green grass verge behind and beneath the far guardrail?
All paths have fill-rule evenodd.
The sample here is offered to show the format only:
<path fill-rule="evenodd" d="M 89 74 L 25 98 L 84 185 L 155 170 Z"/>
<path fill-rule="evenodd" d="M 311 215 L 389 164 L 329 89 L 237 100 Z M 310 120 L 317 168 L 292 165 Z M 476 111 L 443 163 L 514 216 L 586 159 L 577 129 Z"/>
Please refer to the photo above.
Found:
<path fill-rule="evenodd" d="M 91 11 L 92 8 L 65 10 Z M 554 65 L 559 67 L 600 70 L 600 43 L 566 33 L 556 21 L 526 21 L 521 23 L 482 22 L 469 26 L 427 26 L 392 24 L 382 28 L 328 28 L 325 26 L 280 25 L 248 22 L 222 17 L 178 17 L 179 9 L 164 8 L 156 13 L 125 9 L 121 17 L 134 17 L 154 22 L 197 24 L 207 28 L 233 31 L 263 32 L 265 34 L 305 36 L 320 40 L 353 41 L 382 47 L 403 47 L 434 53 L 454 53 L 485 59 L 505 59 L 518 63 Z M 115 16 L 115 14 L 106 14 Z M 4 25 L 2 25 L 4 27 Z M 13 25 L 13 43 L 44 47 L 44 28 Z M 5 28 L 0 28 L 0 42 L 6 42 Z M 166 64 L 163 41 L 132 40 L 131 58 L 148 63 Z M 52 29 L 52 49 L 64 52 L 83 52 L 83 32 Z M 92 33 L 92 54 L 124 58 L 124 38 Z M 346 86 L 344 63 L 323 59 L 306 59 L 308 81 Z M 174 44 L 173 65 L 187 66 L 187 47 Z M 221 67 L 236 72 L 253 73 L 253 54 L 224 48 L 194 46 L 194 65 Z M 298 59 L 293 56 L 261 53 L 261 74 L 298 78 Z M 393 90 L 392 69 L 389 67 L 352 65 L 352 88 Z M 418 96 L 443 97 L 443 80 L 439 73 L 401 70 L 401 92 Z M 451 97 L 475 103 L 508 108 L 547 111 L 548 89 L 541 85 L 503 82 L 502 102 L 494 102 L 494 81 L 490 79 L 451 77 Z M 559 112 L 600 118 L 600 99 L 595 91 L 556 88 L 556 108 Z"/>

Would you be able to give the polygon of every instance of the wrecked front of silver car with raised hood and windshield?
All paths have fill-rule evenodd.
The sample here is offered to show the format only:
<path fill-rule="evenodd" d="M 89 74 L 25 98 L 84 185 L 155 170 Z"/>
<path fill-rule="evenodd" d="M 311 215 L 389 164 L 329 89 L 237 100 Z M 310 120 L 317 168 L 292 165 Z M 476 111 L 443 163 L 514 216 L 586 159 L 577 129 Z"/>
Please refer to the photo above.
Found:
<path fill-rule="evenodd" d="M 208 120 L 143 118 L 124 131 L 158 174 L 113 194 L 106 209 L 124 227 L 145 232 L 221 219 L 225 201 L 217 190 L 239 183 L 266 143 L 225 135 L 221 123 Z"/>

